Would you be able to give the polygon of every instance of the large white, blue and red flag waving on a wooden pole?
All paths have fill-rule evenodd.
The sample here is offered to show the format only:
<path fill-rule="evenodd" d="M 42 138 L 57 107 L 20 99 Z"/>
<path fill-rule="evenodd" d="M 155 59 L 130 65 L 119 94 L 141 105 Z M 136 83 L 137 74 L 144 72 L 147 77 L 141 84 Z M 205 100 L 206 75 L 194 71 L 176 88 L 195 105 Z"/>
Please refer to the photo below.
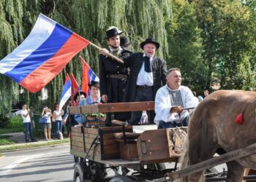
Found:
<path fill-rule="evenodd" d="M 40 14 L 29 36 L 0 61 L 0 73 L 29 92 L 38 92 L 89 41 Z"/>

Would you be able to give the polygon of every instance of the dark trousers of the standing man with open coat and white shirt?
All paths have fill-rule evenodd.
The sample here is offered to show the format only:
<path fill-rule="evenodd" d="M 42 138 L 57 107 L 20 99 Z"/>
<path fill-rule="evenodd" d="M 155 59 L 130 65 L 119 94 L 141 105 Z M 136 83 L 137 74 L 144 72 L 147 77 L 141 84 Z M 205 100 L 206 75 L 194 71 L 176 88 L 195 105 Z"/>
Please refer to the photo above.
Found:
<path fill-rule="evenodd" d="M 154 101 L 154 88 L 153 87 L 136 87 L 135 102 L 142 101 Z M 132 112 L 132 125 L 138 125 L 140 122 L 142 111 L 133 111 Z M 154 116 L 156 115 L 154 111 L 147 111 L 148 122 L 154 124 Z"/>

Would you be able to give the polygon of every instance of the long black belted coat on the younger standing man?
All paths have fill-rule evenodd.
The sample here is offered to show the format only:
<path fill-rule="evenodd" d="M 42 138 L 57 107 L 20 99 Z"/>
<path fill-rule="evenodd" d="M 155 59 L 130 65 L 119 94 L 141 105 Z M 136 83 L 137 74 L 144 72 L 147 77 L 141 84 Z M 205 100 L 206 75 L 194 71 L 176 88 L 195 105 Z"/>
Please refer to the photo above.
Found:
<path fill-rule="evenodd" d="M 119 58 L 124 60 L 132 52 L 122 50 Z M 128 76 L 128 68 L 118 65 L 117 60 L 113 60 L 105 55 L 99 55 L 99 90 L 101 95 L 108 95 L 108 102 L 119 103 L 123 101 L 127 79 L 110 78 L 110 74 L 122 74 Z"/>

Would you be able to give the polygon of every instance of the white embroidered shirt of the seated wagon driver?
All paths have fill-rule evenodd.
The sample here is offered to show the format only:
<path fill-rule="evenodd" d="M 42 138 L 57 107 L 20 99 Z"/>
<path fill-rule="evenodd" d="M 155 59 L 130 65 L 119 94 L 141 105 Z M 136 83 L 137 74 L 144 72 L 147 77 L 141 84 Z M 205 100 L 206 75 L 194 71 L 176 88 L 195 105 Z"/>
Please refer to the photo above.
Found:
<path fill-rule="evenodd" d="M 159 121 L 163 122 L 173 122 L 184 119 L 189 112 L 187 110 L 182 111 L 181 118 L 177 113 L 170 114 L 170 108 L 172 108 L 171 100 L 170 100 L 170 88 L 165 86 L 159 88 L 157 90 L 157 95 L 155 98 L 155 106 L 154 111 L 156 112 L 156 116 L 154 118 L 154 122 L 158 124 Z M 184 108 L 192 108 L 196 107 L 198 104 L 198 100 L 195 99 L 192 91 L 189 87 L 180 86 L 178 90 L 181 91 L 181 98 L 184 105 Z"/>

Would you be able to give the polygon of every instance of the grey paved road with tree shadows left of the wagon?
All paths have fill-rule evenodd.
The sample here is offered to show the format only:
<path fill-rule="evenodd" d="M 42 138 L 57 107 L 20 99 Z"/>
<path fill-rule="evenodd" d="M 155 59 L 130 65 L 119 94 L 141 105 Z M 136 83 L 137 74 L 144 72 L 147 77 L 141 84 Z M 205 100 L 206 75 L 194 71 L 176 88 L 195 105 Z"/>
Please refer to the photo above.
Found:
<path fill-rule="evenodd" d="M 72 181 L 74 160 L 69 145 L 5 153 L 0 181 Z"/>

